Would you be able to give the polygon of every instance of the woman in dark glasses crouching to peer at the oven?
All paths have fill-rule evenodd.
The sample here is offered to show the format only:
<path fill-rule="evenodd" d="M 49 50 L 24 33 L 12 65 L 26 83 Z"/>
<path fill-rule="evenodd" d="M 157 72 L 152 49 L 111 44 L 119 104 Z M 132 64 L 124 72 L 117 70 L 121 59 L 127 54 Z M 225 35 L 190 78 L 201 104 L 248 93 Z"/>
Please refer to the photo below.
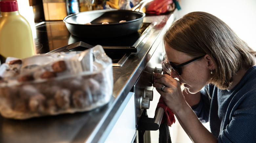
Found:
<path fill-rule="evenodd" d="M 163 40 L 171 76 L 154 74 L 153 86 L 191 140 L 256 142 L 256 52 L 206 12 L 184 15 Z"/>

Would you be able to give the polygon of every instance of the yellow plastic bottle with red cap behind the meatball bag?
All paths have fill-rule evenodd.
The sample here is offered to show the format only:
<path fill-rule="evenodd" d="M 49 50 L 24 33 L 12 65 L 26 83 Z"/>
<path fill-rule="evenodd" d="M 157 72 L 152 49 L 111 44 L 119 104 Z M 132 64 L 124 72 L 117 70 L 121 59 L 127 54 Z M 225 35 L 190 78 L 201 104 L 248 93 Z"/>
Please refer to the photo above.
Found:
<path fill-rule="evenodd" d="M 32 30 L 20 15 L 16 0 L 0 1 L 0 55 L 1 63 L 7 57 L 26 58 L 34 55 Z"/>

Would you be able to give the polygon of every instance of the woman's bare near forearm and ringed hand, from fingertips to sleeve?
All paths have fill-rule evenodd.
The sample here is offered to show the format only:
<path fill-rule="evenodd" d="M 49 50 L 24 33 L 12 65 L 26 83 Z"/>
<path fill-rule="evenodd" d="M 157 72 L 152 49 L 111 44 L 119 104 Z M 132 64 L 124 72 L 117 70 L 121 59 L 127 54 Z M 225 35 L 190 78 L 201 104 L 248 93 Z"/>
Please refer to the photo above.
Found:
<path fill-rule="evenodd" d="M 198 143 L 217 143 L 218 139 L 203 126 L 186 102 L 180 82 L 167 74 L 155 73 L 153 76 L 155 78 L 153 86 L 163 97 L 164 103 L 173 111 L 191 140 Z M 163 85 L 166 86 L 161 90 Z"/>

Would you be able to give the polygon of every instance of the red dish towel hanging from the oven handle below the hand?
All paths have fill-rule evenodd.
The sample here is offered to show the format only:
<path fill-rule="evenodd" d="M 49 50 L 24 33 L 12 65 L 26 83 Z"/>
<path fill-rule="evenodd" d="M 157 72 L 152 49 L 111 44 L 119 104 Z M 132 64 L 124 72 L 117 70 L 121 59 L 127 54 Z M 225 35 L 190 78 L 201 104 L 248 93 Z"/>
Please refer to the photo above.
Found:
<path fill-rule="evenodd" d="M 157 104 L 157 108 L 158 107 L 162 107 L 164 109 L 163 118 L 162 118 L 162 121 L 161 121 L 160 124 L 166 122 L 166 124 L 171 127 L 171 125 L 173 123 L 175 123 L 175 117 L 174 117 L 174 114 L 173 114 L 172 110 L 170 108 L 168 108 L 166 106 L 166 104 L 164 103 L 162 97 L 160 97 L 160 99 L 159 99 L 159 102 Z"/>

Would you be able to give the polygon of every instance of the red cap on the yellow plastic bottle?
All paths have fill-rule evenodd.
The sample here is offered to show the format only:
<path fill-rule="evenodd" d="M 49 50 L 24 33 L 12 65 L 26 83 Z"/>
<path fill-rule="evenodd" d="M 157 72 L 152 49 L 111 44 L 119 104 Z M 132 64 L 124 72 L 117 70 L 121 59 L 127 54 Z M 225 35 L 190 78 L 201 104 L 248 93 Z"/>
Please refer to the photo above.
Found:
<path fill-rule="evenodd" d="M 18 3 L 16 0 L 1 0 L 0 10 L 1 12 L 18 11 Z"/>

